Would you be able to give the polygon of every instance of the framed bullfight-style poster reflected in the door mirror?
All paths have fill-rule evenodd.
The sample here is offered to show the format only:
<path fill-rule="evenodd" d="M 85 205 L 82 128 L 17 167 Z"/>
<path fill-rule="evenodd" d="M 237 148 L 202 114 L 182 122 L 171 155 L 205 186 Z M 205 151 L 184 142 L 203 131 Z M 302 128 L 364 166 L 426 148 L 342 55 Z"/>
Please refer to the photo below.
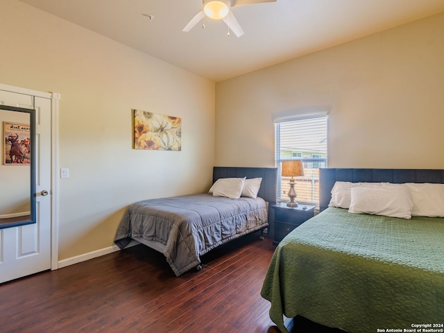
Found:
<path fill-rule="evenodd" d="M 31 161 L 31 135 L 28 123 L 3 122 L 5 165 L 29 165 Z"/>

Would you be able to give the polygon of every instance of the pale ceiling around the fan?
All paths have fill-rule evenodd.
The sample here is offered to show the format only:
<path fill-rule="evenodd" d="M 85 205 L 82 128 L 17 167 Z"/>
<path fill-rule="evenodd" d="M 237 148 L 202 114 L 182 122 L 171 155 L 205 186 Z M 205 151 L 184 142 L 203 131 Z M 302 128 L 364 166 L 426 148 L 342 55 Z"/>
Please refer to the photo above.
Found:
<path fill-rule="evenodd" d="M 444 12 L 444 0 L 278 0 L 182 28 L 202 0 L 20 0 L 215 82 Z M 145 15 L 153 15 L 148 19 Z"/>

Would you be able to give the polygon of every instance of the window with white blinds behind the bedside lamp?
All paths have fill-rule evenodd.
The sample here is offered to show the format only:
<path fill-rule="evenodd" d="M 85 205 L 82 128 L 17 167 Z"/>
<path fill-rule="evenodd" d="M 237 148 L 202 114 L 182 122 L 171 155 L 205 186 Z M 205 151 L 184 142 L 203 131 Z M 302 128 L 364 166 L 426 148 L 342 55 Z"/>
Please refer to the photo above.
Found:
<path fill-rule="evenodd" d="M 289 200 L 290 178 L 282 177 L 282 160 L 302 160 L 304 175 L 296 178 L 296 201 L 319 203 L 319 168 L 327 167 L 327 116 L 275 123 L 278 200 Z"/>

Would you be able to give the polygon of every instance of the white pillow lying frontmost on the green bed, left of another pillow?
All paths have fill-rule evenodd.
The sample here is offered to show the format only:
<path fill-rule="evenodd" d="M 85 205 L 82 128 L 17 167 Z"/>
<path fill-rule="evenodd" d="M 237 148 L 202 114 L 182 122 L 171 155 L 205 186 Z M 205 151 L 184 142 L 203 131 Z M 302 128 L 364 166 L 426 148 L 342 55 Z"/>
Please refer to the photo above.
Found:
<path fill-rule="evenodd" d="M 382 187 L 352 187 L 352 201 L 348 212 L 373 214 L 401 219 L 411 219 L 409 189 L 402 184 L 387 184 Z"/>

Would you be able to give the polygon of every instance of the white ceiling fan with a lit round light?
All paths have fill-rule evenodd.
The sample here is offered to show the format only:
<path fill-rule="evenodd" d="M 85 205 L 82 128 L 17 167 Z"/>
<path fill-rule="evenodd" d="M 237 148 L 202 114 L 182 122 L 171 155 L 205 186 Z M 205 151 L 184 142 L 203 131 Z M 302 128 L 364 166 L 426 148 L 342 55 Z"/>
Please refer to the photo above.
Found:
<path fill-rule="evenodd" d="M 210 19 L 222 19 L 228 26 L 228 35 L 231 31 L 237 36 L 241 37 L 244 35 L 239 22 L 237 22 L 236 17 L 232 13 L 232 7 L 253 5 L 255 3 L 266 3 L 266 2 L 276 2 L 277 0 L 203 0 L 202 10 L 194 16 L 190 22 L 183 28 L 182 31 L 186 33 L 189 32 L 194 26 L 198 24 L 200 20 L 204 20 L 205 17 L 210 17 Z M 202 25 L 205 28 L 205 22 Z"/>

